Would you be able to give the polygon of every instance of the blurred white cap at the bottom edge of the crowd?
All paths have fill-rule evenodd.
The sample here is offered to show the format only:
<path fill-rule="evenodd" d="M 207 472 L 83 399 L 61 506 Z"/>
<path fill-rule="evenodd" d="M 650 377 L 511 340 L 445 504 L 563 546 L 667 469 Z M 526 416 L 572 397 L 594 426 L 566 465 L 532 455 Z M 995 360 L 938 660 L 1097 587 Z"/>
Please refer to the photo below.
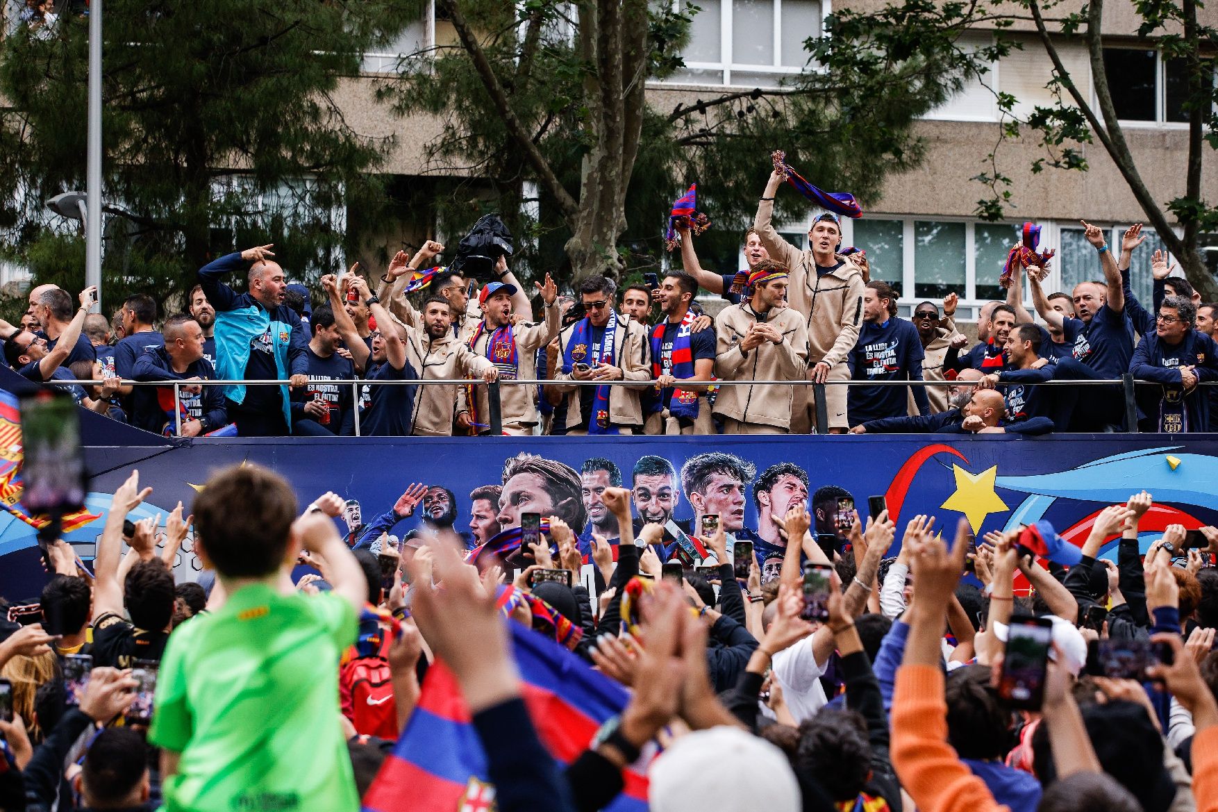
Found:
<path fill-rule="evenodd" d="M 721 725 L 681 736 L 652 763 L 650 812 L 799 812 L 787 756 L 765 739 Z"/>

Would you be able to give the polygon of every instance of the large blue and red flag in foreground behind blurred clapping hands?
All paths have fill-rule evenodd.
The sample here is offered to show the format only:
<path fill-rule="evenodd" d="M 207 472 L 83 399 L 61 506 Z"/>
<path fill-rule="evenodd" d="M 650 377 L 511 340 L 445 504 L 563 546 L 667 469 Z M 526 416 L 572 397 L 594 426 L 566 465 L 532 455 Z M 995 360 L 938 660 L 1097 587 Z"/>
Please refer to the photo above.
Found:
<path fill-rule="evenodd" d="M 618 683 L 582 660 L 515 623 L 512 649 L 525 706 L 537 736 L 560 764 L 587 750 L 597 729 L 626 707 Z M 470 723 L 460 686 L 442 662 L 428 669 L 419 703 L 397 747 L 363 799 L 364 812 L 491 810 L 495 786 L 486 755 Z M 625 788 L 608 812 L 647 812 L 647 777 L 626 768 Z"/>

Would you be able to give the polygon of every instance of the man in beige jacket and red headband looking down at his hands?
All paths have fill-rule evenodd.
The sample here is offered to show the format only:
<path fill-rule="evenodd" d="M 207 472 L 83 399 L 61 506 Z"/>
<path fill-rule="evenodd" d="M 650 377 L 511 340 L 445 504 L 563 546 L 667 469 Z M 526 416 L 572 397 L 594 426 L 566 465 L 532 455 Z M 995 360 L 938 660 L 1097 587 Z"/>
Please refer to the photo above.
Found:
<path fill-rule="evenodd" d="M 787 268 L 762 260 L 749 274 L 748 301 L 725 307 L 716 319 L 715 376 L 722 380 L 803 380 L 808 328 L 803 315 L 783 307 Z M 799 386 L 801 388 L 801 386 Z M 715 415 L 723 434 L 786 434 L 797 386 L 721 386 Z"/>

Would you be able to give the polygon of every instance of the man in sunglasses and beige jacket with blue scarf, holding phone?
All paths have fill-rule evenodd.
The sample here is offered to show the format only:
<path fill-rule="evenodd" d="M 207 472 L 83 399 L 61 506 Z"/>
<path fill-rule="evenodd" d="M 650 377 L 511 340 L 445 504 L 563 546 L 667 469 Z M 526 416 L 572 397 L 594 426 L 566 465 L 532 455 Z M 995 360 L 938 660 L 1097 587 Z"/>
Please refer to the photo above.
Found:
<path fill-rule="evenodd" d="M 561 366 L 554 391 L 566 395 L 566 434 L 639 434 L 639 394 L 652 385 L 647 329 L 614 311 L 616 285 L 591 277 L 580 285 L 587 313 L 559 334 Z M 580 385 L 582 382 L 638 382 L 635 385 Z"/>

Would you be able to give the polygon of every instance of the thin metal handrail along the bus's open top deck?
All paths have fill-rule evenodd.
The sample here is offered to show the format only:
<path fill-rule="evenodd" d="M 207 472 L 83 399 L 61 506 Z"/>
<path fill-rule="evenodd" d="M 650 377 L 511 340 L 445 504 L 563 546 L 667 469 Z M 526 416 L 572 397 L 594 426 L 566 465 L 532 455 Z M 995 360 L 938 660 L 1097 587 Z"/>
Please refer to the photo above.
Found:
<path fill-rule="evenodd" d="M 48 382 L 51 384 L 78 384 L 78 385 L 95 385 L 100 386 L 104 380 L 54 380 Z M 173 386 L 174 401 L 181 400 L 181 388 L 183 386 L 285 386 L 291 384 L 291 380 L 122 380 L 124 386 Z M 487 416 L 488 428 L 492 434 L 501 434 L 503 430 L 502 423 L 502 402 L 499 399 L 499 384 L 512 384 L 520 386 L 538 386 L 538 385 L 563 385 L 563 386 L 646 386 L 655 385 L 657 380 L 540 380 L 540 379 L 502 379 L 492 383 L 487 383 L 481 379 L 471 380 L 466 378 L 456 379 L 415 379 L 415 380 L 363 380 L 359 378 L 334 380 L 326 379 L 328 385 L 341 385 L 351 386 L 352 401 L 358 405 L 359 402 L 359 386 L 469 386 L 480 385 L 487 388 L 487 402 L 490 415 Z M 798 380 L 704 380 L 698 382 L 702 386 L 812 386 L 816 395 L 816 426 L 817 433 L 823 434 L 827 432 L 828 426 L 828 412 L 825 402 L 825 386 L 976 386 L 979 382 L 977 380 L 825 380 L 814 382 L 808 379 Z M 1079 379 L 1079 380 L 1040 380 L 1040 382 L 1028 382 L 1028 383 L 1000 383 L 999 385 L 1021 385 L 1021 386 L 1116 386 L 1119 385 L 1123 389 L 1123 396 L 1125 401 L 1125 424 L 1129 427 L 1130 433 L 1138 432 L 1138 407 L 1134 401 L 1134 386 L 1136 384 L 1149 384 L 1158 385 L 1153 380 L 1139 380 L 1133 377 L 1132 373 L 1127 373 L 1118 379 Z M 1214 382 L 1199 382 L 1197 385 L 1201 386 L 1218 386 L 1218 380 Z M 362 436 L 359 432 L 359 408 L 354 410 L 354 430 L 356 436 Z M 174 434 L 177 436 L 181 435 L 181 411 L 177 410 L 174 413 Z"/>

